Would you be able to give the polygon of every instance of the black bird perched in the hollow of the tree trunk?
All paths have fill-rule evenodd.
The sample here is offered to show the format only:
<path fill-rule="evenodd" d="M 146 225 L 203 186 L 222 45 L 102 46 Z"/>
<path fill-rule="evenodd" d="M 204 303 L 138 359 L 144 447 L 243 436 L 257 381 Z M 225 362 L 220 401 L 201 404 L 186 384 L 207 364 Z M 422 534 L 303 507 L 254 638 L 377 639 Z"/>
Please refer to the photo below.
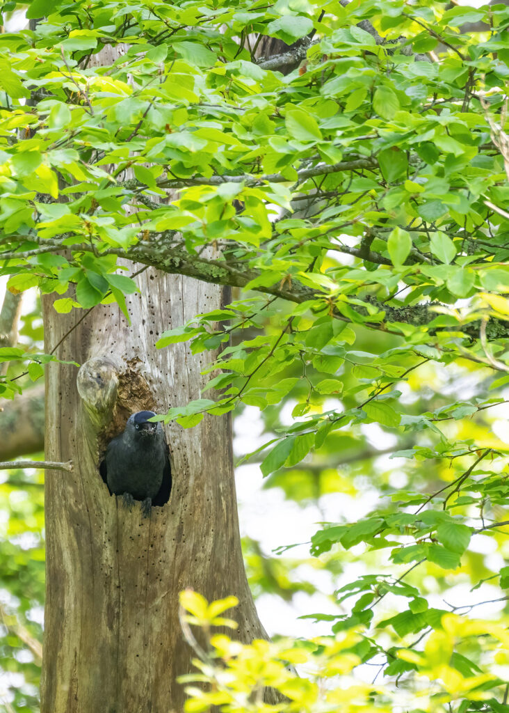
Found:
<path fill-rule="evenodd" d="M 160 423 L 148 420 L 152 416 L 155 416 L 153 411 L 132 414 L 123 434 L 108 443 L 105 458 L 110 493 L 122 496 L 129 509 L 135 500 L 142 501 L 145 517 L 162 489 L 164 473 L 169 473 L 164 431 Z"/>

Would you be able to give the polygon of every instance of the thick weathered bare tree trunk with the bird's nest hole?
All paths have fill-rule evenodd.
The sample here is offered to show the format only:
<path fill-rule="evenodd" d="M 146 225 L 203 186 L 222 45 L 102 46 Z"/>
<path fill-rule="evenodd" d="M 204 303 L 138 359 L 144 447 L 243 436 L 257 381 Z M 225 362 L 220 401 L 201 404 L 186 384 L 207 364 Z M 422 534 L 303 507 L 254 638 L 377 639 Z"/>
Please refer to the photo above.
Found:
<path fill-rule="evenodd" d="M 186 344 L 155 349 L 164 329 L 221 306 L 221 289 L 149 269 L 128 300 L 57 314 L 43 299 L 46 458 L 72 460 L 73 473 L 46 474 L 46 618 L 41 713 L 168 713 L 181 710 L 176 677 L 191 670 L 178 595 L 234 594 L 236 636 L 266 637 L 243 568 L 229 416 L 193 429 L 169 424 L 172 492 L 143 519 L 110 496 L 99 466 L 107 441 L 132 412 L 185 404 L 204 384 L 203 355 Z M 93 360 L 93 361 L 90 361 Z"/>

